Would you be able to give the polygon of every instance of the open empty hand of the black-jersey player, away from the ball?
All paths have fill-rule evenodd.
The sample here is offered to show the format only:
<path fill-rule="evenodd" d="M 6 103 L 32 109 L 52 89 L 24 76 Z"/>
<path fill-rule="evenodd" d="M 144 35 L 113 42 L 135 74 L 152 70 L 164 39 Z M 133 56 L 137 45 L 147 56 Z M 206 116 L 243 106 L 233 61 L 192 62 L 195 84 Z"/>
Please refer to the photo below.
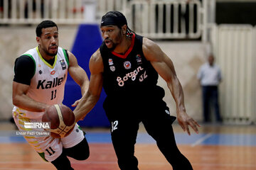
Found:
<path fill-rule="evenodd" d="M 191 132 L 188 128 L 188 125 L 191 126 L 191 128 L 198 133 L 198 123 L 196 120 L 193 120 L 185 111 L 180 111 L 177 113 L 177 119 L 178 119 L 178 124 L 181 125 L 181 128 L 184 130 L 184 132 L 188 132 L 188 135 L 191 135 Z"/>

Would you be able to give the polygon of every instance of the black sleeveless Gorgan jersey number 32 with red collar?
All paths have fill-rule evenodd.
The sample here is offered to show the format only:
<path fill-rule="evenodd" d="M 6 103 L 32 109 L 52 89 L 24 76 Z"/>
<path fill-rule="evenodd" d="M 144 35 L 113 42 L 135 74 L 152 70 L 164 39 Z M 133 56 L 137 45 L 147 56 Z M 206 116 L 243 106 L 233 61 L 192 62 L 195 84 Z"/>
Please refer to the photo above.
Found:
<path fill-rule="evenodd" d="M 137 94 L 151 96 L 157 93 L 158 73 L 146 60 L 140 35 L 132 36 L 132 44 L 124 55 L 110 51 L 105 42 L 100 46 L 104 64 L 103 88 L 107 96 L 134 97 Z M 148 96 L 148 95 L 146 95 Z"/>

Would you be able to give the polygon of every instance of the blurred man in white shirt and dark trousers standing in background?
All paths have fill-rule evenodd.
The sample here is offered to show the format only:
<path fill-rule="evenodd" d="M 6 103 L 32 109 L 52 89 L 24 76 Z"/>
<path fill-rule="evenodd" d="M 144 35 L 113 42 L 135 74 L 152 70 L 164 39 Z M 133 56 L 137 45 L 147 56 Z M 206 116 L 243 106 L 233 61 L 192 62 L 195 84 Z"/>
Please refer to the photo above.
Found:
<path fill-rule="evenodd" d="M 197 77 L 202 86 L 204 122 L 210 121 L 210 103 L 213 103 L 216 121 L 220 123 L 222 119 L 218 103 L 218 85 L 222 77 L 220 67 L 214 64 L 212 54 L 208 56 L 208 62 L 200 67 Z"/>

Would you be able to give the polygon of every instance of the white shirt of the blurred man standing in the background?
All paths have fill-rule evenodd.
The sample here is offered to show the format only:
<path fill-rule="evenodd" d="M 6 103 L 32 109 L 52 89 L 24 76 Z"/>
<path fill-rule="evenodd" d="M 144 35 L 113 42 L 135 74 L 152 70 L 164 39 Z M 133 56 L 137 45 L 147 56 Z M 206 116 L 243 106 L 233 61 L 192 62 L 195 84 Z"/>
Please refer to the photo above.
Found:
<path fill-rule="evenodd" d="M 216 64 L 213 66 L 209 63 L 203 64 L 198 71 L 197 78 L 202 86 L 218 86 L 222 79 L 220 67 Z"/>

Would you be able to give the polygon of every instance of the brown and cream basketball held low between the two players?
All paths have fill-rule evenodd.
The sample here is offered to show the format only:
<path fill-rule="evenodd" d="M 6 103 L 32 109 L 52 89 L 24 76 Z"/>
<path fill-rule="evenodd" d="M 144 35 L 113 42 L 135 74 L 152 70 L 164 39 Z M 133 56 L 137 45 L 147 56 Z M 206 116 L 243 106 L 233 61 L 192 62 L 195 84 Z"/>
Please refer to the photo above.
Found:
<path fill-rule="evenodd" d="M 50 106 L 42 118 L 43 122 L 50 123 L 50 136 L 55 138 L 66 137 L 72 132 L 75 126 L 75 115 L 65 105 Z"/>

